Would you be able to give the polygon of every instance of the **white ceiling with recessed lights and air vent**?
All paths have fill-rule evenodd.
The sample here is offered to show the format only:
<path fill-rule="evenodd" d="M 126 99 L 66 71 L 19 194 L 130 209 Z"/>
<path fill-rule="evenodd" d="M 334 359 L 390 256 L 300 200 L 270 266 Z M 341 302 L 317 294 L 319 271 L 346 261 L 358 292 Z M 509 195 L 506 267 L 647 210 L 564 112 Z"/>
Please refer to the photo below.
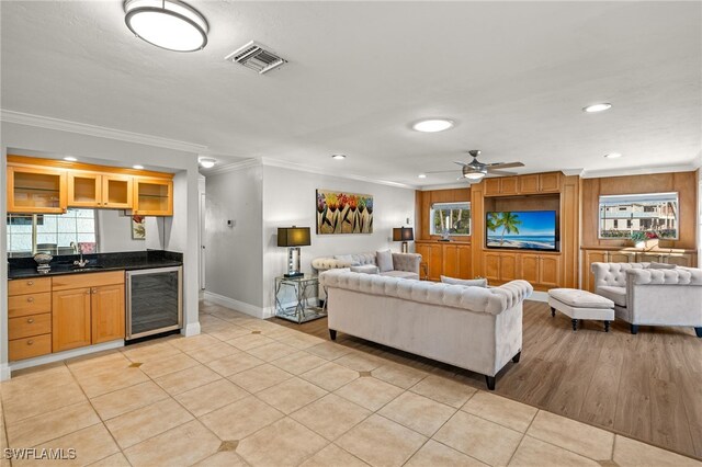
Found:
<path fill-rule="evenodd" d="M 121 1 L 0 2 L 2 109 L 412 185 L 455 183 L 467 149 L 520 173 L 702 155 L 701 2 L 190 4 L 210 43 L 179 54 L 131 35 Z M 224 60 L 251 39 L 290 64 Z M 409 129 L 428 116 L 457 124 Z"/>

